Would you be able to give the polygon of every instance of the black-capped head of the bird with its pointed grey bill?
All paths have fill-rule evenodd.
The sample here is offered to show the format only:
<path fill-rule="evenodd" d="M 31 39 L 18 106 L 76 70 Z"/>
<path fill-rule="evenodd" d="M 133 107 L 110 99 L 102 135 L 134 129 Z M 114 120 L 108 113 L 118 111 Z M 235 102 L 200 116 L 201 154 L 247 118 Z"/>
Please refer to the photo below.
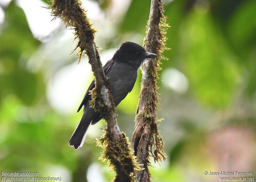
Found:
<path fill-rule="evenodd" d="M 145 51 L 145 49 L 133 42 L 124 42 L 121 44 L 113 56 L 114 60 L 124 61 L 135 64 L 140 67 L 142 62 L 147 58 L 156 58 L 157 55 Z"/>

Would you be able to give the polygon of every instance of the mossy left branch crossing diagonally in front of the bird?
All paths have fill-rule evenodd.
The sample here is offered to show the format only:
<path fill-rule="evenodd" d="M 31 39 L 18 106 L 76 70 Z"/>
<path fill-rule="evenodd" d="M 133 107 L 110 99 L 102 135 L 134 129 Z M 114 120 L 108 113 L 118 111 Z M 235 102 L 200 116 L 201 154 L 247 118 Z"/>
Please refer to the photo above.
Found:
<path fill-rule="evenodd" d="M 74 50 L 79 49 L 78 62 L 84 53 L 87 54 L 92 65 L 95 88 L 91 92 L 91 106 L 105 118 L 107 126 L 104 135 L 98 140 L 98 144 L 104 149 L 102 159 L 116 172 L 113 181 L 133 182 L 135 170 L 138 170 L 139 166 L 132 155 L 128 139 L 124 133 L 120 133 L 116 121 L 115 103 L 94 42 L 96 30 L 92 28 L 80 0 L 52 0 L 52 5 L 48 8 L 52 9 L 54 19 L 61 18 L 66 27 L 75 30 L 75 39 L 78 41 Z"/>

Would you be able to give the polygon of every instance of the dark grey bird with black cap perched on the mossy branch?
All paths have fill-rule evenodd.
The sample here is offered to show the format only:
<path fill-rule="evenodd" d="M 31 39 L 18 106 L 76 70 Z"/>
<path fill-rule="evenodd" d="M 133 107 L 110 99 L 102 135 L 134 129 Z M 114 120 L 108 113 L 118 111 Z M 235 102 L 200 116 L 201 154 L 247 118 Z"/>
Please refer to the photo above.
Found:
<path fill-rule="evenodd" d="M 105 75 L 110 80 L 111 93 L 117 106 L 126 95 L 132 91 L 137 79 L 137 71 L 146 58 L 155 58 L 156 54 L 145 51 L 143 47 L 132 42 L 125 42 L 119 46 L 112 59 L 103 67 Z M 83 116 L 69 140 L 69 146 L 75 149 L 83 146 L 86 132 L 90 124 L 95 124 L 102 119 L 98 112 L 89 106 L 91 95 L 89 91 L 95 87 L 93 80 L 84 95 L 84 99 L 77 112 L 84 106 Z"/>

